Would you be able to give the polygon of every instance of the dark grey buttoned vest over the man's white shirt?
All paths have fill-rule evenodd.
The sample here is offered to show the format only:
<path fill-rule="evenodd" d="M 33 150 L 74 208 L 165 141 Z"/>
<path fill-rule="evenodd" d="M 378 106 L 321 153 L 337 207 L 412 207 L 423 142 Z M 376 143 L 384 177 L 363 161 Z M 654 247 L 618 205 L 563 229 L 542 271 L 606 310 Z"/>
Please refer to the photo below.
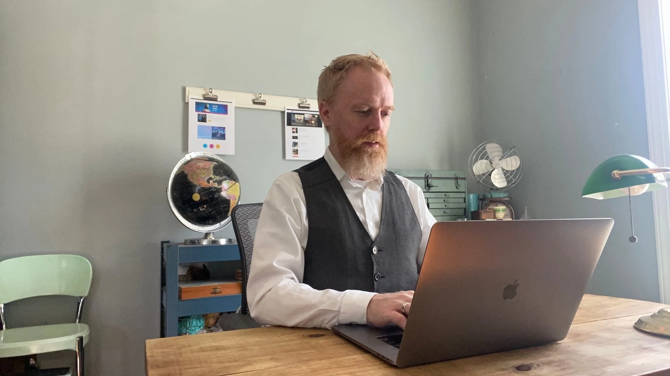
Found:
<path fill-rule="evenodd" d="M 421 226 L 398 177 L 384 175 L 379 233 L 372 240 L 326 159 L 296 172 L 308 218 L 303 282 L 316 290 L 414 290 Z"/>

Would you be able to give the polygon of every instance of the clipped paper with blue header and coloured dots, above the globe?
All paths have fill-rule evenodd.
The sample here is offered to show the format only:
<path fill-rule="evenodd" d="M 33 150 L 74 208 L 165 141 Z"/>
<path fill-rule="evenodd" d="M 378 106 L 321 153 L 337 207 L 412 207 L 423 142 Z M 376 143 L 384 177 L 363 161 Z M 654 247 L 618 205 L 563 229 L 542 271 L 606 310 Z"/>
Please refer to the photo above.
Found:
<path fill-rule="evenodd" d="M 235 102 L 188 98 L 188 153 L 235 154 Z"/>

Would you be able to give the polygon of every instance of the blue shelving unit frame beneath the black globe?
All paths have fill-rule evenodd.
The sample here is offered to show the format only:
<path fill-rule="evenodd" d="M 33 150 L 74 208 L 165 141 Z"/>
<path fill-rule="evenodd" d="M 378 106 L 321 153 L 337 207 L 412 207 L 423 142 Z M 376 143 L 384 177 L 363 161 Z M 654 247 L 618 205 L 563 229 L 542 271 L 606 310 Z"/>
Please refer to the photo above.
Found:
<path fill-rule="evenodd" d="M 181 316 L 214 312 L 234 312 L 242 304 L 242 295 L 212 296 L 179 300 L 178 265 L 190 262 L 240 260 L 237 244 L 185 246 L 161 242 L 161 337 L 177 335 Z"/>

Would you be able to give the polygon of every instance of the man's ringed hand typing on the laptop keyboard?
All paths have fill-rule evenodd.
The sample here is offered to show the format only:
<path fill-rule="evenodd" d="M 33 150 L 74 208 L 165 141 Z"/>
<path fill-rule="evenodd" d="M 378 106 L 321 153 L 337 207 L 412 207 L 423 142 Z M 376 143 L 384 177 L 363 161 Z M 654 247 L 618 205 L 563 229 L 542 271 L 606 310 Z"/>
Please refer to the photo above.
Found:
<path fill-rule="evenodd" d="M 413 296 L 414 291 L 412 290 L 373 296 L 368 303 L 368 323 L 375 326 L 397 324 L 405 329 L 407 314 L 409 314 L 409 306 L 411 306 Z M 405 314 L 403 314 L 402 309 L 403 303 L 410 303 L 405 305 Z"/>

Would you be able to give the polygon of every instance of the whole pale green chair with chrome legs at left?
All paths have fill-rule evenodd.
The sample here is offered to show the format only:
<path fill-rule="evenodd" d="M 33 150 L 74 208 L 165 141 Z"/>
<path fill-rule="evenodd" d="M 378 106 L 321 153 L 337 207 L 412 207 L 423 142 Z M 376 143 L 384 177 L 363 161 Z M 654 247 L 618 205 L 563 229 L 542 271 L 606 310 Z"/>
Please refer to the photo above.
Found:
<path fill-rule="evenodd" d="M 0 262 L 0 358 L 51 351 L 76 351 L 76 375 L 84 375 L 84 345 L 88 325 L 80 324 L 84 297 L 88 295 L 92 268 L 76 255 L 39 255 Z M 5 322 L 5 303 L 44 295 L 78 297 L 74 324 L 10 328 Z"/>

